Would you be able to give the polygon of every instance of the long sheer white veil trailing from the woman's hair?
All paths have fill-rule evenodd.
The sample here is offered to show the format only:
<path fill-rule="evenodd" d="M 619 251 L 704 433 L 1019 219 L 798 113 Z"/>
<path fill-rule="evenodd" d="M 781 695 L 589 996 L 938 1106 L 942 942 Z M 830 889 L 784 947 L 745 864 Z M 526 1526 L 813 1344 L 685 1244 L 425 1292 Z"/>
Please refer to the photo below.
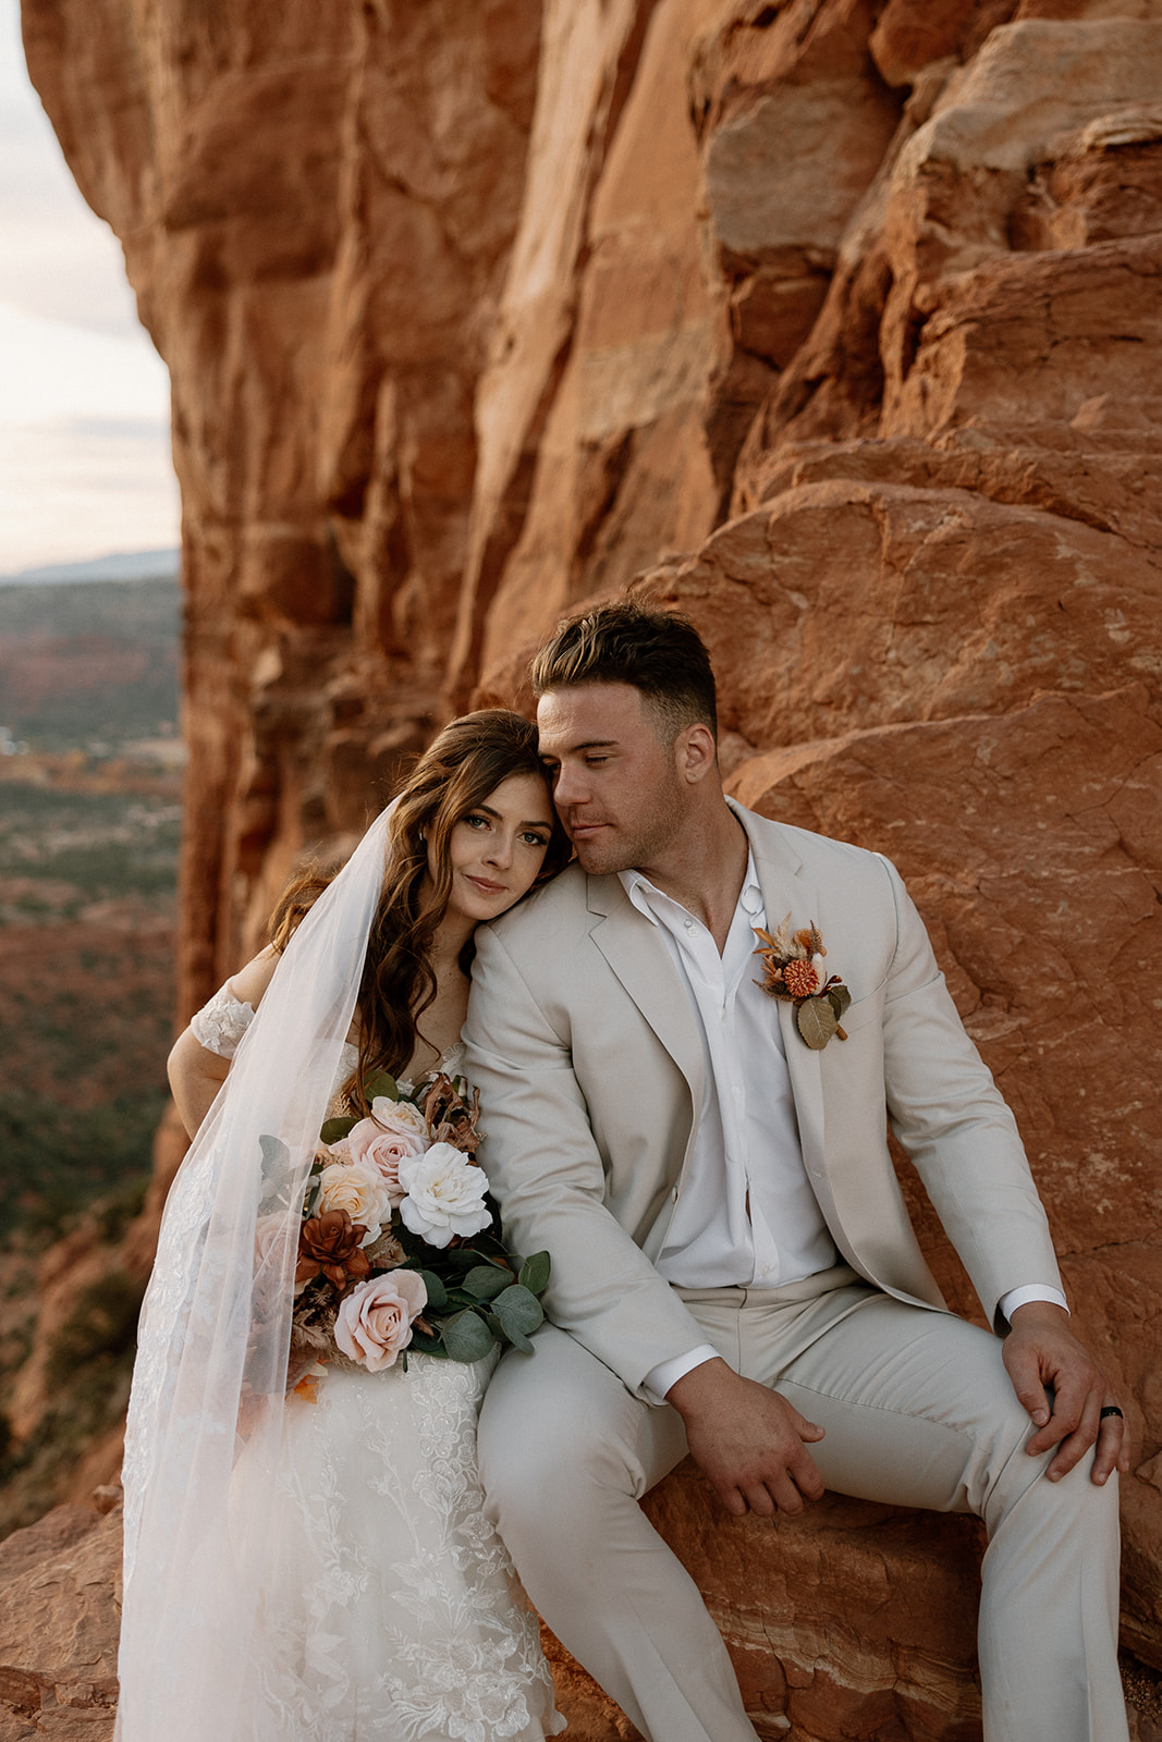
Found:
<path fill-rule="evenodd" d="M 228 1737 L 246 1697 L 303 1186 L 355 1010 L 388 819 L 279 958 L 169 1193 L 125 1435 L 117 1742 Z"/>

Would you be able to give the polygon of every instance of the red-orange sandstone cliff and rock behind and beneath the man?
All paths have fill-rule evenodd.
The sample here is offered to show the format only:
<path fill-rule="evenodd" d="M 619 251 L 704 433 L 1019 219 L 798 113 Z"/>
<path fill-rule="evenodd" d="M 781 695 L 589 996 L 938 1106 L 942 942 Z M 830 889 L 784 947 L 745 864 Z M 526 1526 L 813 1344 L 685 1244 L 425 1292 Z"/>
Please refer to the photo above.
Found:
<path fill-rule="evenodd" d="M 732 789 L 895 859 L 1016 1108 L 1129 1401 L 1162 1665 L 1162 0 L 24 0 L 24 35 L 174 381 L 183 1007 L 563 608 L 688 610 Z M 976 1733 L 956 1521 L 726 1526 L 685 1472 L 652 1505 L 763 1733 Z M 876 1556 L 920 1608 L 824 1610 Z"/>

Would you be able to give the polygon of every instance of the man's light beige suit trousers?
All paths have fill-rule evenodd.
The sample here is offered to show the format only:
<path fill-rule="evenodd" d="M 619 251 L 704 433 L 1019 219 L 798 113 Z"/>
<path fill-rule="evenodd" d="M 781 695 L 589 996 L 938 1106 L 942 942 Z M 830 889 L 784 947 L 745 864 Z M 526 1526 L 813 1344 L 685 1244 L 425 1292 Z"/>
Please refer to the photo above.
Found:
<path fill-rule="evenodd" d="M 1000 1341 L 847 1266 L 777 1291 L 683 1291 L 735 1371 L 826 1439 L 828 1488 L 988 1526 L 979 1624 L 986 1742 L 1127 1742 L 1117 1669 L 1117 1479 L 1047 1482 Z M 686 1451 L 566 1333 L 509 1354 L 484 1395 L 481 1472 L 524 1587 L 650 1742 L 754 1742 L 697 1585 L 638 1500 Z"/>

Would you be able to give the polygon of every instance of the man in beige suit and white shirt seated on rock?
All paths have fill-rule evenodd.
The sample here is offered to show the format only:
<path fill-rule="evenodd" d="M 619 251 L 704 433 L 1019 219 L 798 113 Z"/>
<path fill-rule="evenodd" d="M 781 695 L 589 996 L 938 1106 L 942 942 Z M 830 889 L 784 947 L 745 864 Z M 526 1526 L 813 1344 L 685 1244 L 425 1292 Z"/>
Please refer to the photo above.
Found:
<path fill-rule="evenodd" d="M 599 606 L 531 676 L 577 862 L 477 930 L 465 1070 L 509 1239 L 552 1254 L 479 1434 L 533 1603 L 650 1742 L 754 1742 L 638 1498 L 690 1451 L 739 1516 L 970 1510 L 988 1742 L 1124 1742 L 1122 1416 L 899 874 L 723 796 L 683 618 Z M 998 1336 L 942 1310 L 888 1120 Z"/>

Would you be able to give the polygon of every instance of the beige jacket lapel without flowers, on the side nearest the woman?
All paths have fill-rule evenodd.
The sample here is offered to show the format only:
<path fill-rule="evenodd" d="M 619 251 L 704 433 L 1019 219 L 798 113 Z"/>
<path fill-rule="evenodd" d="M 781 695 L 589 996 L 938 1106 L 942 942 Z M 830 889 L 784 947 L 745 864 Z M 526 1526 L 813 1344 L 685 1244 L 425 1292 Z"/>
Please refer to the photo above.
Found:
<path fill-rule="evenodd" d="M 617 876 L 589 878 L 589 911 L 599 916 L 594 944 L 690 1084 L 697 1125 L 706 1087 L 702 1035 L 660 927 L 638 913 Z"/>

